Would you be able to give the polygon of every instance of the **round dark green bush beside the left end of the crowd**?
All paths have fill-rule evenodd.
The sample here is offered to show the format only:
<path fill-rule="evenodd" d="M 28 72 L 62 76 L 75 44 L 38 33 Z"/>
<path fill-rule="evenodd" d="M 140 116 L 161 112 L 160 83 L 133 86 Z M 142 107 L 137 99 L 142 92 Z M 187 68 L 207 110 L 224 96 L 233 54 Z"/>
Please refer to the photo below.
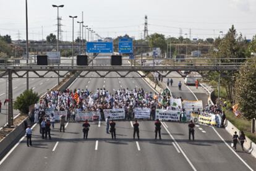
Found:
<path fill-rule="evenodd" d="M 28 107 L 35 104 L 39 99 L 38 93 L 32 89 L 23 91 L 14 102 L 14 109 L 19 110 L 22 114 L 28 114 Z"/>

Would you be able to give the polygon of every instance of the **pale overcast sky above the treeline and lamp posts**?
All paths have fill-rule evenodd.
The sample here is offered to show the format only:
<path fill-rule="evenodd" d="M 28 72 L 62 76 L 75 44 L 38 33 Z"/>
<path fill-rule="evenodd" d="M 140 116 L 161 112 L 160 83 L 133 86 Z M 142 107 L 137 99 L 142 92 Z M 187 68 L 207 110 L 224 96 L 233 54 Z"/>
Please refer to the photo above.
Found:
<path fill-rule="evenodd" d="M 13 40 L 25 39 L 25 0 L 0 0 L 0 34 Z M 51 5 L 64 4 L 59 9 L 62 17 L 62 40 L 72 40 L 72 20 L 96 31 L 102 37 L 128 34 L 142 38 L 144 17 L 148 15 L 148 33 L 189 38 L 217 37 L 226 33 L 232 24 L 248 39 L 256 34 L 255 0 L 28 0 L 29 39 L 41 40 L 49 33 L 56 34 L 57 9 Z M 181 28 L 181 29 L 180 29 Z M 75 36 L 79 24 L 75 23 Z M 88 37 L 88 35 L 87 35 Z"/>

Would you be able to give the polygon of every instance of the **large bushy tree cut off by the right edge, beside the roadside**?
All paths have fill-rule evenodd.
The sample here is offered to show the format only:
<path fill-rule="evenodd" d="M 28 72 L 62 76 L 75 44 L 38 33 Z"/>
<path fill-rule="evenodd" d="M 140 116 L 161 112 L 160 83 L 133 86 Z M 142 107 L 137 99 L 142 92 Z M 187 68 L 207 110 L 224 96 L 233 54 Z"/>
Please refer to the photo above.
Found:
<path fill-rule="evenodd" d="M 256 58 L 248 59 L 236 79 L 236 103 L 246 119 L 256 118 Z"/>

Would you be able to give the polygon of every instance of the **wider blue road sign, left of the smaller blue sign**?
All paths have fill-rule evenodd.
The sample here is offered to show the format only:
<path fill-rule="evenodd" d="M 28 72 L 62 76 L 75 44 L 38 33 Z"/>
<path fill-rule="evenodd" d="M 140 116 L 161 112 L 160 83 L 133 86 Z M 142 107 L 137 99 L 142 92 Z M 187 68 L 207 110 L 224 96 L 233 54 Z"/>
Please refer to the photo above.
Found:
<path fill-rule="evenodd" d="M 113 53 L 113 42 L 87 42 L 88 53 Z"/>

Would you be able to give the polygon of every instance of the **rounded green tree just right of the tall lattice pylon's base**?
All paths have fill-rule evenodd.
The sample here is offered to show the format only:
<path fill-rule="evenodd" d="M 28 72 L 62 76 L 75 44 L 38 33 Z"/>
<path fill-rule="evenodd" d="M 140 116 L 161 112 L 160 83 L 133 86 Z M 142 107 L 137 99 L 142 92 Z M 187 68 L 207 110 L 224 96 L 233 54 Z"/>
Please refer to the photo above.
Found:
<path fill-rule="evenodd" d="M 150 46 L 150 48 L 160 48 L 162 54 L 166 52 L 167 44 L 164 35 L 158 33 L 150 35 L 148 39 L 148 45 Z"/>

